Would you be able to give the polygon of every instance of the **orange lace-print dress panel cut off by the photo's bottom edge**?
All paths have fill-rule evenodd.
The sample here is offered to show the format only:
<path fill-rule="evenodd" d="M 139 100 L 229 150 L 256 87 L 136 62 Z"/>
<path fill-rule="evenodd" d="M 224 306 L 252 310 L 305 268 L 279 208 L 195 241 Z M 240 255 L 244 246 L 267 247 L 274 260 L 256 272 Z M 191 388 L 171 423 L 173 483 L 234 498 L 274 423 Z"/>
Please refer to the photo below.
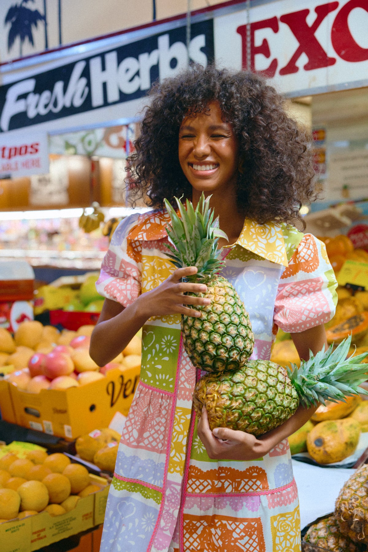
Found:
<path fill-rule="evenodd" d="M 265 552 L 260 518 L 184 514 L 184 552 Z"/>

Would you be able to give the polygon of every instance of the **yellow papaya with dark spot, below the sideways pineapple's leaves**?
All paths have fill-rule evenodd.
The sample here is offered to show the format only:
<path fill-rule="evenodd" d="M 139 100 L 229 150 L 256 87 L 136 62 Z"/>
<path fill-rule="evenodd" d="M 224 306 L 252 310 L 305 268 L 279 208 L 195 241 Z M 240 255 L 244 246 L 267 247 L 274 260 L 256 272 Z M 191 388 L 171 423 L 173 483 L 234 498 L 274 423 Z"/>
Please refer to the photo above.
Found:
<path fill-rule="evenodd" d="M 332 464 L 354 453 L 360 437 L 360 423 L 353 418 L 317 423 L 307 435 L 307 450 L 318 464 Z"/>

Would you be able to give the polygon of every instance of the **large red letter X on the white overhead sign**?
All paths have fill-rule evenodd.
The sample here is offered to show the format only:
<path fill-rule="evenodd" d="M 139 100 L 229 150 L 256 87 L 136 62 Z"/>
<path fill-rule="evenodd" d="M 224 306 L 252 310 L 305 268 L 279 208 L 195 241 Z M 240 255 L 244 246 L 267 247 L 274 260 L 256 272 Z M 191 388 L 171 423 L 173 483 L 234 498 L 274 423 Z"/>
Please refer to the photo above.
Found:
<path fill-rule="evenodd" d="M 316 36 L 314 36 L 314 33 L 316 33 L 316 30 L 319 25 L 321 25 L 326 15 L 333 12 L 338 6 L 338 2 L 329 2 L 328 4 L 323 4 L 323 6 L 317 6 L 314 8 L 314 12 L 316 12 L 317 17 L 314 19 L 311 26 L 309 26 L 306 22 L 306 17 L 310 12 L 309 9 L 302 9 L 300 12 L 281 15 L 280 21 L 289 26 L 292 34 L 294 34 L 297 39 L 299 46 L 292 55 L 289 63 L 280 69 L 280 75 L 296 73 L 299 70 L 296 66 L 296 61 L 303 54 L 303 52 L 308 57 L 308 62 L 304 66 L 306 71 L 334 65 L 336 59 L 334 57 L 328 57 L 321 44 L 319 44 L 316 39 Z"/>

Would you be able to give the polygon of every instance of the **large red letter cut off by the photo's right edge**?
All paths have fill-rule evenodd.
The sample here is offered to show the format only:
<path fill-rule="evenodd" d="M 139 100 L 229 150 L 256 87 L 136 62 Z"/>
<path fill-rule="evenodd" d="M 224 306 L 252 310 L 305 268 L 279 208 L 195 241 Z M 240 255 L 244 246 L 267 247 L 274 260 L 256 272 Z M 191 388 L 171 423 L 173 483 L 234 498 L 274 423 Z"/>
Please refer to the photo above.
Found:
<path fill-rule="evenodd" d="M 355 8 L 368 12 L 367 0 L 350 0 L 337 14 L 331 31 L 331 41 L 337 55 L 345 61 L 357 62 L 368 60 L 368 48 L 356 44 L 350 33 L 348 17 Z"/>

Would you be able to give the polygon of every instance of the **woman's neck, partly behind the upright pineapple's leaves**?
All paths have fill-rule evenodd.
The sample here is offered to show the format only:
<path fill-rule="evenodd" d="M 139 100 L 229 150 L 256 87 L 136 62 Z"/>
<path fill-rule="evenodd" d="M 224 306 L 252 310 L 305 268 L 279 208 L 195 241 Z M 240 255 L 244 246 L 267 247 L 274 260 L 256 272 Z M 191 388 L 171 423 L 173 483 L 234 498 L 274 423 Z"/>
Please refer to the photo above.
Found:
<path fill-rule="evenodd" d="M 202 192 L 193 188 L 192 201 L 194 208 L 201 197 L 201 193 Z M 208 195 L 211 195 L 210 192 L 205 192 L 205 197 Z M 226 192 L 224 192 L 224 190 L 213 192 L 210 206 L 214 209 L 215 218 L 218 216 L 221 230 L 223 230 L 229 238 L 228 242 L 220 238 L 220 240 L 218 240 L 218 246 L 223 247 L 236 242 L 243 230 L 244 215 L 238 211 L 235 190 L 227 189 Z"/>

